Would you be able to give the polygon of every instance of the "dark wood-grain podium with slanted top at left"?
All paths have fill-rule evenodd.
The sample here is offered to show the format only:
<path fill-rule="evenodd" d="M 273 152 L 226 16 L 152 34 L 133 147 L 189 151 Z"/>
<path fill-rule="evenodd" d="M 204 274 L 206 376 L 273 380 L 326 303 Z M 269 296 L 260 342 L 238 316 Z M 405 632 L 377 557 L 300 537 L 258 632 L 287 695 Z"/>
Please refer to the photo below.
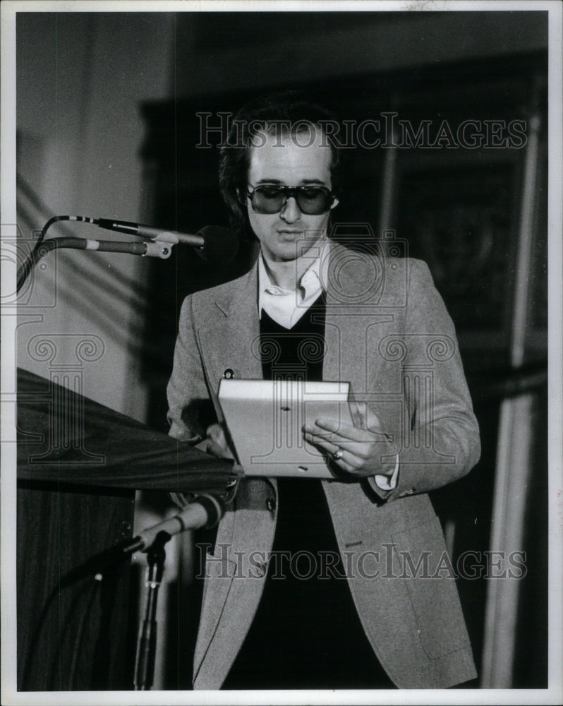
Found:
<path fill-rule="evenodd" d="M 223 493 L 236 477 L 229 461 L 18 371 L 18 690 L 132 689 L 129 562 L 96 580 L 92 557 L 131 538 L 135 490 Z"/>

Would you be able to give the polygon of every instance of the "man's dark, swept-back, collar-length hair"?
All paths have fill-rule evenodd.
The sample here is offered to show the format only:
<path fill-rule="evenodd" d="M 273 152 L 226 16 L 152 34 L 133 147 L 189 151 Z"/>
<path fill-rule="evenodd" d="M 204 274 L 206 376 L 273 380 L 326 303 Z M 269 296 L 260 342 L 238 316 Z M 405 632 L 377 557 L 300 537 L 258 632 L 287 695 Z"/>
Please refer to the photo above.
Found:
<path fill-rule="evenodd" d="M 327 124 L 334 128 L 327 130 Z M 286 91 L 260 97 L 244 105 L 234 116 L 219 157 L 219 186 L 229 207 L 231 227 L 246 229 L 248 213 L 241 194 L 246 193 L 250 165 L 250 140 L 259 132 L 267 134 L 301 133 L 320 129 L 332 152 L 330 164 L 331 189 L 338 194 L 340 186 L 341 152 L 333 133 L 338 131 L 336 117 L 322 105 L 306 100 L 303 94 Z"/>

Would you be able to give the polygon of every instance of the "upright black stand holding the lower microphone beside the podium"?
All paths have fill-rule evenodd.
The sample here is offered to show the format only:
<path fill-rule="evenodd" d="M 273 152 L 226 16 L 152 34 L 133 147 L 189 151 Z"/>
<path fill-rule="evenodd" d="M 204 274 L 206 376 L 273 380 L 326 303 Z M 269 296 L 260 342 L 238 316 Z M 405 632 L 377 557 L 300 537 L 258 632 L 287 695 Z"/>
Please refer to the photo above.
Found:
<path fill-rule="evenodd" d="M 145 587 L 145 618 L 139 630 L 137 641 L 137 657 L 135 658 L 135 691 L 145 691 L 151 688 L 155 676 L 155 657 L 157 654 L 157 598 L 158 590 L 164 574 L 166 553 L 164 545 L 171 535 L 161 530 L 150 549 L 147 550 L 147 571 Z"/>

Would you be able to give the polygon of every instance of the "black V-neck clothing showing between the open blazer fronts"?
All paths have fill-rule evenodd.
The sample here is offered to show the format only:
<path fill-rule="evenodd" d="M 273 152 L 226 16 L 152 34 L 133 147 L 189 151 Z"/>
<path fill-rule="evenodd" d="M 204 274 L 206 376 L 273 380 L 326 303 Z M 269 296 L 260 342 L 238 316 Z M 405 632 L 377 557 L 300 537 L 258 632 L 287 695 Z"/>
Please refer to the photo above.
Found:
<path fill-rule="evenodd" d="M 289 330 L 262 311 L 260 348 L 279 351 L 262 359 L 266 380 L 322 380 L 325 310 L 322 295 Z M 223 688 L 393 688 L 353 604 L 320 481 L 277 483 L 275 557 Z"/>

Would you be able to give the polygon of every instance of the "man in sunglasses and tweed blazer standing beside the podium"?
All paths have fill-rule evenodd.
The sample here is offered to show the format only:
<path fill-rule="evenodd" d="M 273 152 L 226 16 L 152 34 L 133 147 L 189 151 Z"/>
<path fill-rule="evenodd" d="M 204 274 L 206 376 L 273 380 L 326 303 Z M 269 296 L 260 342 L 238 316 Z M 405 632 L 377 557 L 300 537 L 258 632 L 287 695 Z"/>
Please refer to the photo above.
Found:
<path fill-rule="evenodd" d="M 327 237 L 340 189 L 330 120 L 287 95 L 239 112 L 220 180 L 260 241 L 258 262 L 181 311 L 168 388 L 178 440 L 232 457 L 225 375 L 305 369 L 354 393 L 353 424 L 303 428 L 334 479 L 240 482 L 205 566 L 199 689 L 445 688 L 476 676 L 427 494 L 480 453 L 454 327 L 423 263 Z M 205 430 L 209 399 L 217 424 Z M 303 572 L 303 556 L 317 570 Z"/>

